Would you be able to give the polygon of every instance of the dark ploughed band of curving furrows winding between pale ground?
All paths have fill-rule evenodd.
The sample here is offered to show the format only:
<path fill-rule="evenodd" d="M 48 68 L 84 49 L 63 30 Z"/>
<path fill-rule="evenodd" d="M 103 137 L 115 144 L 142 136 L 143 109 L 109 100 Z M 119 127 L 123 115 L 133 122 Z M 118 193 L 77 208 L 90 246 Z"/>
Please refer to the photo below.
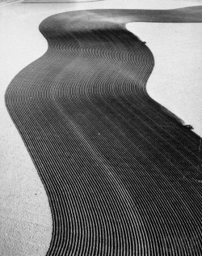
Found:
<path fill-rule="evenodd" d="M 48 195 L 47 255 L 202 254 L 200 137 L 148 96 L 153 54 L 124 26 L 201 17 L 94 10 L 40 24 L 48 51 L 13 79 L 6 107 Z"/>

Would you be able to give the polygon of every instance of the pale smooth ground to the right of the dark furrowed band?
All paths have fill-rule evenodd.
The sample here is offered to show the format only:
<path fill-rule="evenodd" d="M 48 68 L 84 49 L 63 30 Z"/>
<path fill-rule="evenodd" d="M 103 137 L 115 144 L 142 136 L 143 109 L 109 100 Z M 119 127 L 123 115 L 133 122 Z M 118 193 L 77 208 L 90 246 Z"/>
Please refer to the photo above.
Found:
<path fill-rule="evenodd" d="M 128 23 L 127 28 L 154 54 L 149 95 L 202 137 L 202 23 Z"/>

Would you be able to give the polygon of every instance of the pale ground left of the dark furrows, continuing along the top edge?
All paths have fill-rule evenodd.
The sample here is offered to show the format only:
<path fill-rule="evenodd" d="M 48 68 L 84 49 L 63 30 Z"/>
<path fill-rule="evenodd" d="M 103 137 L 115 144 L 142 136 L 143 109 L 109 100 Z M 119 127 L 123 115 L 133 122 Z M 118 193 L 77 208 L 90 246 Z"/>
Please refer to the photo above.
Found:
<path fill-rule="evenodd" d="M 39 23 L 49 15 L 81 9 L 168 9 L 198 4 L 198 1 L 108 0 L 48 6 L 16 4 L 0 9 L 0 255 L 44 255 L 51 239 L 48 198 L 4 103 L 4 93 L 11 79 L 47 49 L 38 31 Z M 137 36 L 141 35 L 137 32 Z M 149 40 L 145 36 L 142 38 Z"/>

